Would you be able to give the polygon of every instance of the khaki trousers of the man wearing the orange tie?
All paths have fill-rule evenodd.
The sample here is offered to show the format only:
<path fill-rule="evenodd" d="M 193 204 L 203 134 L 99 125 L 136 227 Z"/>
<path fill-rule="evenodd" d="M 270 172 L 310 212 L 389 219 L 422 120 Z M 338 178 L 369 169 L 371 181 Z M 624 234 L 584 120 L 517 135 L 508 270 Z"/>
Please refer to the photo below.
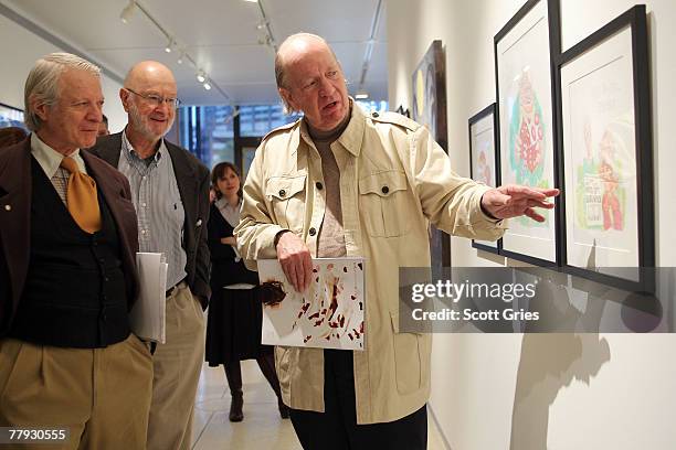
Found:
<path fill-rule="evenodd" d="M 70 440 L 0 447 L 144 449 L 151 389 L 150 352 L 134 334 L 105 349 L 1 340 L 0 426 L 68 428 Z"/>

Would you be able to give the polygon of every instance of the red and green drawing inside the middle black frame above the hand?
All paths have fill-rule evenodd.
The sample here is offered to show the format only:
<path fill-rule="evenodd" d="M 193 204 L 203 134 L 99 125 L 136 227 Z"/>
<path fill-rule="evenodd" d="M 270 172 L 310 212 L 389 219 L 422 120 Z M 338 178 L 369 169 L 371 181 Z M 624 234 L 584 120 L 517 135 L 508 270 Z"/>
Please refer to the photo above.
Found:
<path fill-rule="evenodd" d="M 550 188 L 545 176 L 547 142 L 542 107 L 528 71 L 521 71 L 517 83 L 518 95 L 509 111 L 509 169 L 517 184 Z M 540 214 L 545 216 L 542 223 L 528 217 L 518 221 L 528 227 L 549 227 L 549 212 Z"/>

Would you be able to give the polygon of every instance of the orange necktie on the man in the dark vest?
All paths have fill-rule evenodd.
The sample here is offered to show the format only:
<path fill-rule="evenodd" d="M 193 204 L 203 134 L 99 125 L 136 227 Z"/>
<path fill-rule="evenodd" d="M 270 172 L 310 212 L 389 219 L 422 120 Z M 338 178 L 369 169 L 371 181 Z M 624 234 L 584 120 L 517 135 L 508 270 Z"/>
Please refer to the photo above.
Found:
<path fill-rule="evenodd" d="M 85 232 L 101 229 L 101 211 L 96 196 L 96 182 L 77 168 L 73 158 L 66 157 L 61 167 L 71 172 L 66 188 L 66 204 L 75 223 Z"/>

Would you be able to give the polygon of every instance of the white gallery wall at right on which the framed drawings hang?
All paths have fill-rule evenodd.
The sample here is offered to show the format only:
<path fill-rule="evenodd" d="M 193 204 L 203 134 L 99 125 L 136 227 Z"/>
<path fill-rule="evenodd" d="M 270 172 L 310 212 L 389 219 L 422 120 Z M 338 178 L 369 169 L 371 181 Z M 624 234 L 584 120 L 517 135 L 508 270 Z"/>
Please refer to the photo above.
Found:
<path fill-rule="evenodd" d="M 563 51 L 630 0 L 560 0 Z M 411 107 L 431 42 L 446 56 L 450 158 L 469 175 L 467 119 L 495 101 L 494 35 L 525 0 L 388 0 L 389 100 Z M 645 2 L 653 105 L 658 266 L 676 266 L 676 2 Z M 513 265 L 452 238 L 454 266 Z M 676 448 L 676 336 L 434 336 L 431 407 L 453 450 Z"/>

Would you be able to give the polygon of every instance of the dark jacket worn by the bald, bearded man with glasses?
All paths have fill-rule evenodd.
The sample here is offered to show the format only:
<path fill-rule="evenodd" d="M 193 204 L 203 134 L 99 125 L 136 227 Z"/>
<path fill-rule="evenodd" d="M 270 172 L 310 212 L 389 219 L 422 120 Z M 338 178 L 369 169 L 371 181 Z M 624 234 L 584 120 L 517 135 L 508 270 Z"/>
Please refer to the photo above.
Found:
<path fill-rule="evenodd" d="M 124 131 L 123 131 L 124 132 Z M 122 133 L 98 138 L 91 151 L 117 169 L 122 151 Z M 190 152 L 165 140 L 171 156 L 173 173 L 186 211 L 183 222 L 183 249 L 188 257 L 186 281 L 198 296 L 202 309 L 207 309 L 209 288 L 209 247 L 207 223 L 209 221 L 209 169 Z"/>

